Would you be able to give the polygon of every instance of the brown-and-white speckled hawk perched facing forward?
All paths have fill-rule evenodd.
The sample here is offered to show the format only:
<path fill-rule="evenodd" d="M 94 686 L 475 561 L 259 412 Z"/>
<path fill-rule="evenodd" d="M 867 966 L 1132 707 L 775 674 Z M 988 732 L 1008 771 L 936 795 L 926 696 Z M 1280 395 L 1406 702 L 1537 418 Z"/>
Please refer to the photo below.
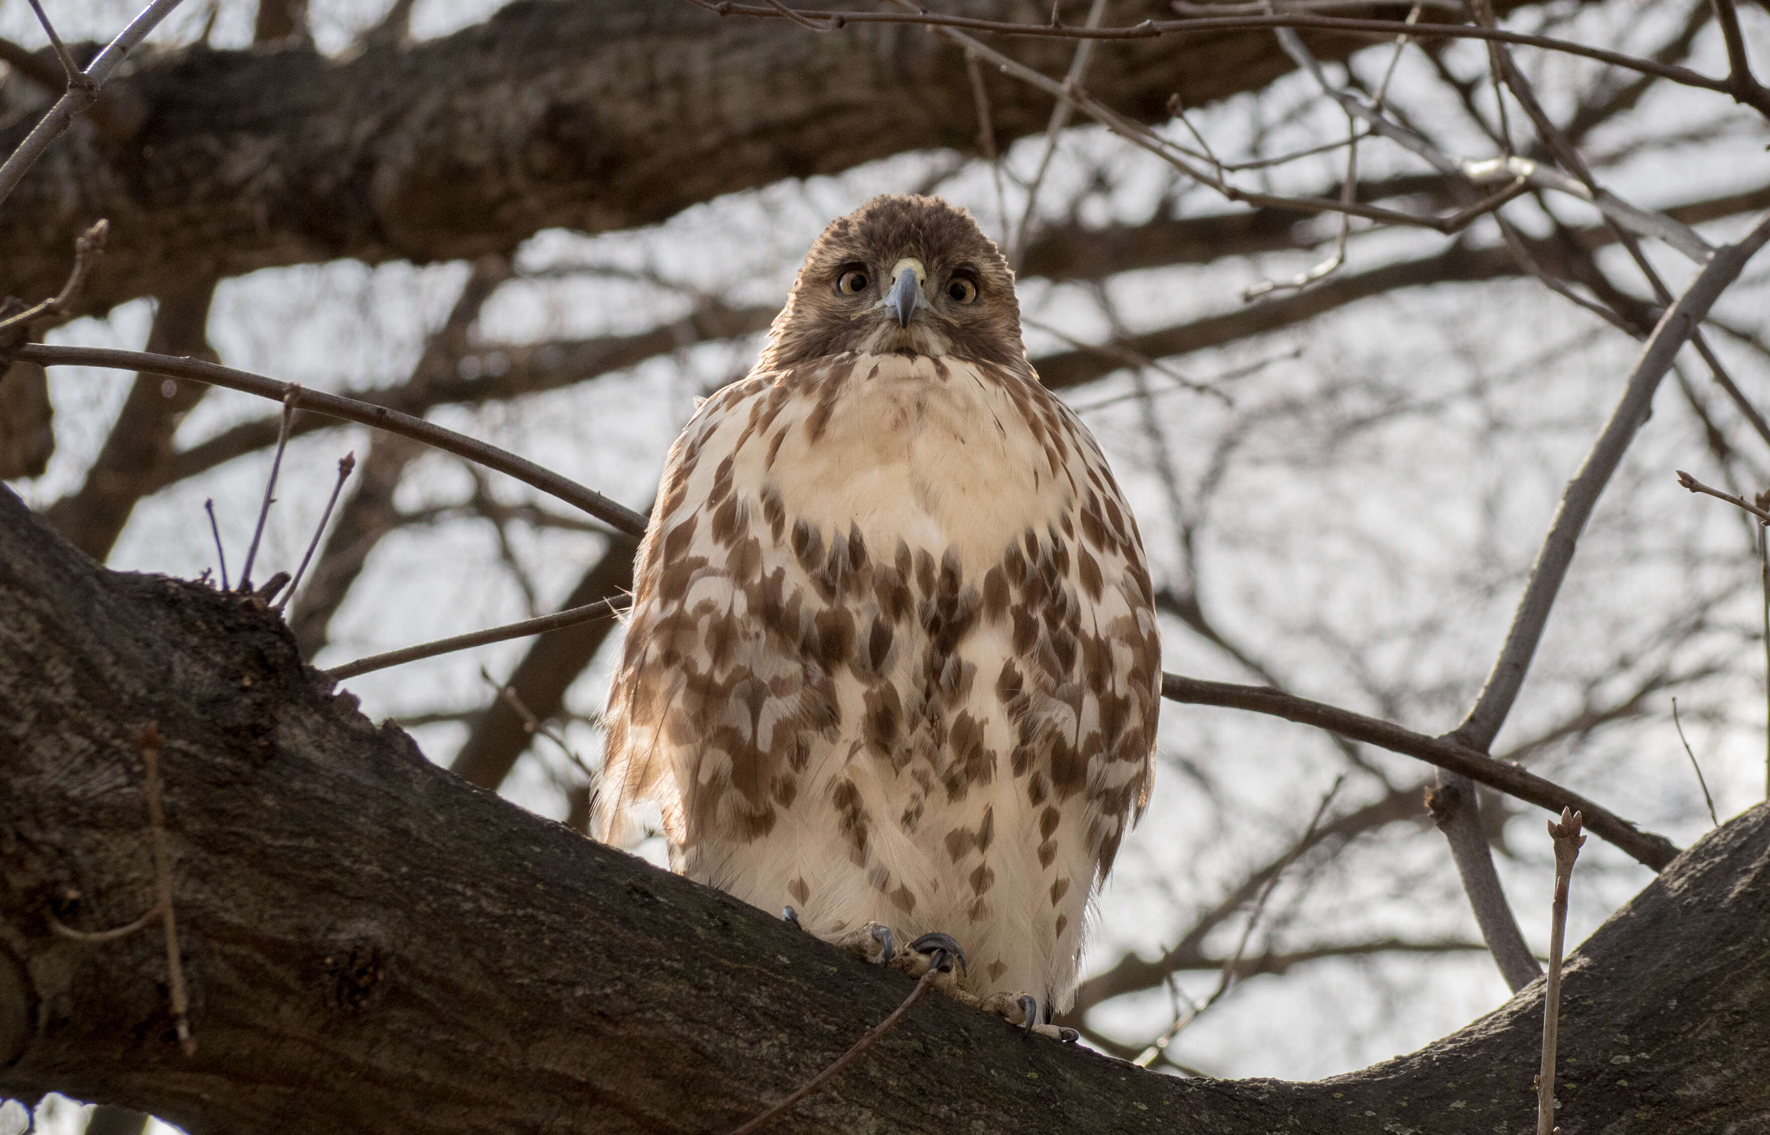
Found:
<path fill-rule="evenodd" d="M 958 958 L 947 992 L 1057 1034 L 1149 799 L 1161 645 L 995 243 L 933 197 L 834 221 L 657 501 L 598 834 L 657 800 L 674 871 L 910 972 Z"/>

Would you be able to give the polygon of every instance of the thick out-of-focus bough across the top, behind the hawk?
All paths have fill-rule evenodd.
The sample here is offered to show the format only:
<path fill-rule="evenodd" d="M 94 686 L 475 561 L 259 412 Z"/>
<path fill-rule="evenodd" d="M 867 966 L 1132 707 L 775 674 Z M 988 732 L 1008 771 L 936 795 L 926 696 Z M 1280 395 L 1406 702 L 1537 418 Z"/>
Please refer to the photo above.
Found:
<path fill-rule="evenodd" d="M 1021 0 L 947 11 L 1044 18 Z M 1115 23 L 1163 14 L 1110 5 Z M 1312 39 L 1324 58 L 1363 42 Z M 1007 50 L 1062 74 L 1074 44 Z M 1168 37 L 1096 51 L 1089 87 L 1159 120 L 1172 94 L 1202 106 L 1290 67 L 1269 34 Z M 988 85 L 997 145 L 1046 127 L 1048 96 L 993 71 Z M 127 129 L 76 122 L 7 200 L 0 294 L 53 294 L 99 216 L 112 239 L 83 301 L 104 310 L 193 273 L 510 253 L 542 228 L 648 225 L 720 193 L 977 140 L 965 57 L 938 35 L 820 35 L 681 0 L 519 0 L 455 35 L 375 37 L 340 60 L 299 37 L 193 46 L 143 57 L 108 94 Z"/>

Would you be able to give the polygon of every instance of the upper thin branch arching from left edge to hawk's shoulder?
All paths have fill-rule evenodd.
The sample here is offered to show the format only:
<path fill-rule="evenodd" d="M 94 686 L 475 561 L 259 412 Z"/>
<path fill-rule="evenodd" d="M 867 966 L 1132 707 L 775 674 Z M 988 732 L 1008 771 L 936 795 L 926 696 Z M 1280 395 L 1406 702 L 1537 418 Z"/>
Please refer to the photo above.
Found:
<path fill-rule="evenodd" d="M 248 395 L 274 398 L 278 402 L 287 398 L 290 390 L 296 388 L 294 382 L 278 382 L 276 379 L 248 374 L 244 370 L 234 370 L 232 367 L 221 367 L 218 363 L 173 358 L 170 354 L 150 354 L 147 351 L 25 344 L 16 351 L 14 358 L 25 359 L 27 363 L 37 363 L 39 367 L 65 365 L 145 370 L 147 374 L 163 374 L 173 379 L 191 379 L 211 386 L 225 386 L 228 390 L 239 390 Z M 496 469 L 517 478 L 519 482 L 529 483 L 549 496 L 559 498 L 566 505 L 582 508 L 598 521 L 604 521 L 611 528 L 630 537 L 643 537 L 646 533 L 646 519 L 632 508 L 618 505 L 600 492 L 586 489 L 568 476 L 559 476 L 552 469 L 543 469 L 531 460 L 524 460 L 508 450 L 467 437 L 466 434 L 457 434 L 455 430 L 442 429 L 441 425 L 425 421 L 423 418 L 402 414 L 395 409 L 388 409 L 386 405 L 375 405 L 373 402 L 345 398 L 343 395 L 327 395 L 315 390 L 296 388 L 296 409 L 326 414 L 329 418 L 343 418 L 345 421 L 359 421 L 363 425 L 375 427 L 377 430 L 412 437 L 428 446 L 435 446 L 457 457 L 466 457 L 467 460 L 474 460 L 487 469 Z"/>

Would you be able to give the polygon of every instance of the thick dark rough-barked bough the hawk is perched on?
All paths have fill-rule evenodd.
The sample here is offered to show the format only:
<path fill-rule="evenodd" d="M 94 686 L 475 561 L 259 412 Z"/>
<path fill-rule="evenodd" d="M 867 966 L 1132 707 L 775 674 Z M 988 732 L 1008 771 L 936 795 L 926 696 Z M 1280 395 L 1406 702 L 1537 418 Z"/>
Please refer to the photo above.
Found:
<path fill-rule="evenodd" d="M 301 664 L 250 598 L 112 574 L 0 492 L 0 1093 L 209 1131 L 722 1131 L 908 992 L 724 894 L 526 815 Z M 196 1054 L 168 1039 L 135 731 L 166 738 Z M 78 898 L 71 898 L 78 892 Z M 1770 1116 L 1770 809 L 1574 954 L 1566 1135 Z M 1519 1131 L 1540 983 L 1320 1084 L 1175 1080 L 945 999 L 777 1131 Z"/>

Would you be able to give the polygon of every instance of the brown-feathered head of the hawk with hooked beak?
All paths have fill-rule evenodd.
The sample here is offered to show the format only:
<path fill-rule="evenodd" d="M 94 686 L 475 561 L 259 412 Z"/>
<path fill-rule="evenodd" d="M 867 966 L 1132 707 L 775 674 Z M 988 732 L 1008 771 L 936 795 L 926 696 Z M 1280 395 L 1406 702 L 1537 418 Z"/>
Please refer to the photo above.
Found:
<path fill-rule="evenodd" d="M 965 209 L 938 197 L 874 197 L 811 246 L 763 365 L 844 351 L 1018 367 L 1027 352 L 1014 273 Z"/>

